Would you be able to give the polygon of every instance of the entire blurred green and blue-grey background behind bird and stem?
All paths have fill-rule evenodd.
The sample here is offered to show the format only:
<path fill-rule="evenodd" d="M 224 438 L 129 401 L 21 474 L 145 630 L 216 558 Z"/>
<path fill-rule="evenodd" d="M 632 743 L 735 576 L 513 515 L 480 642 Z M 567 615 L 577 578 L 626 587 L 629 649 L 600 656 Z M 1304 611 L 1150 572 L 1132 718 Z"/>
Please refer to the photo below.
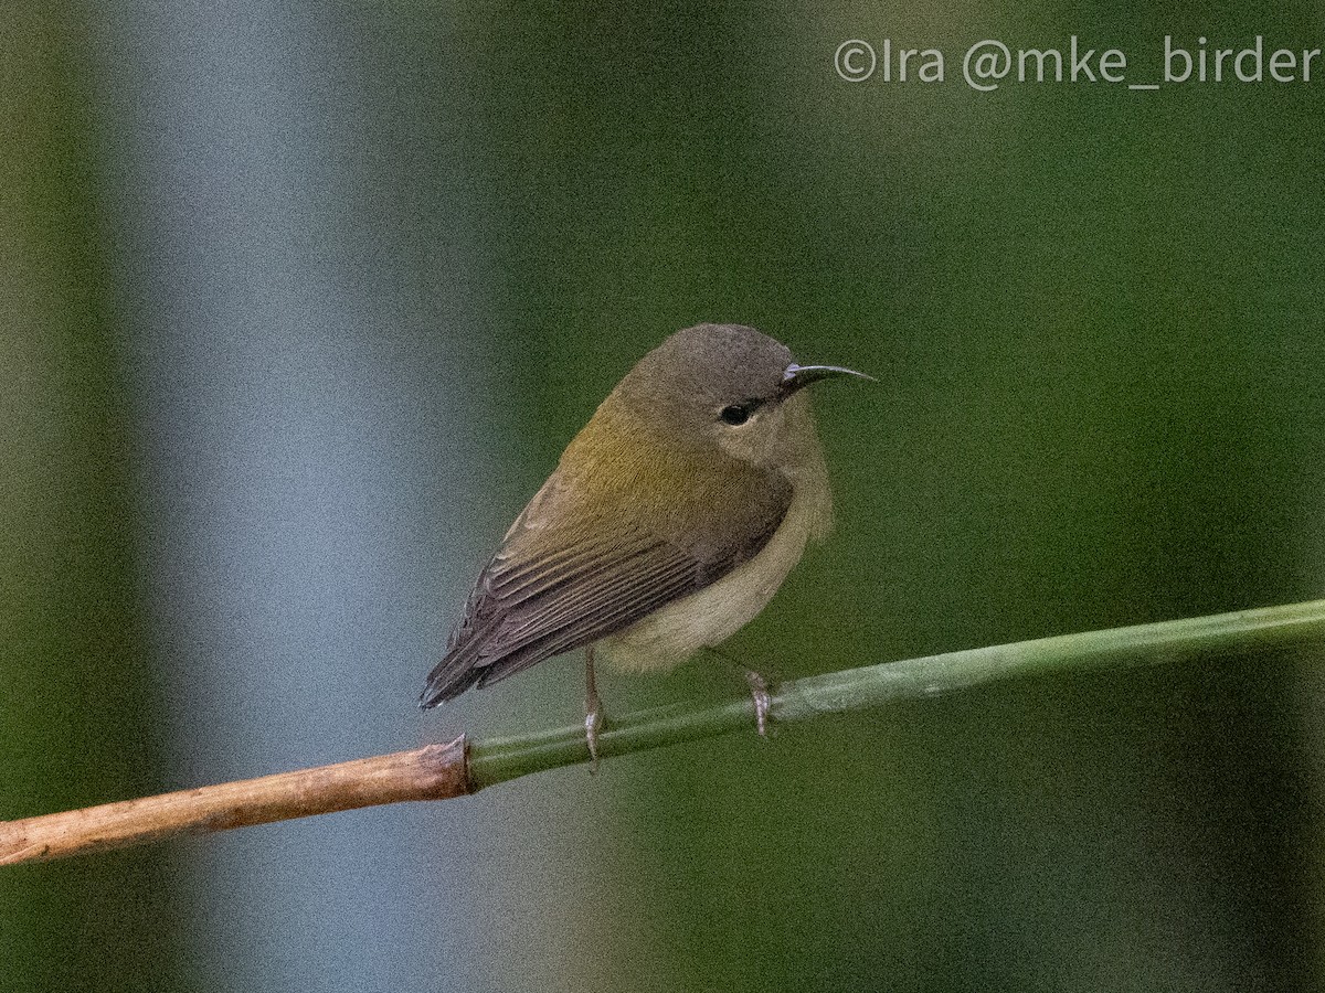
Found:
<path fill-rule="evenodd" d="M 1012 85 L 980 38 L 1317 4 L 7 5 L 0 817 L 579 718 L 413 699 L 670 331 L 824 389 L 779 675 L 1325 596 L 1325 70 Z M 843 82 L 847 38 L 943 83 Z M 1318 66 L 1317 66 L 1318 68 Z M 1061 678 L 0 878 L 7 990 L 1325 985 L 1318 651 Z M 617 712 L 737 688 L 608 675 Z"/>

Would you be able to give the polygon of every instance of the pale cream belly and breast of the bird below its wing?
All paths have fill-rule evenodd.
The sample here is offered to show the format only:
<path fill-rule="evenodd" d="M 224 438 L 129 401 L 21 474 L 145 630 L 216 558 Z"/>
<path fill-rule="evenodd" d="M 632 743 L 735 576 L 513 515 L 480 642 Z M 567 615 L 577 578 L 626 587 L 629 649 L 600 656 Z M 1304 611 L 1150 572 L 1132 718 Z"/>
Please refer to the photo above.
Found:
<path fill-rule="evenodd" d="M 827 531 L 827 493 L 799 493 L 787 516 L 758 555 L 698 593 L 661 606 L 625 630 L 598 642 L 620 669 L 670 669 L 702 647 L 718 645 L 749 624 L 772 600 L 806 542 Z"/>

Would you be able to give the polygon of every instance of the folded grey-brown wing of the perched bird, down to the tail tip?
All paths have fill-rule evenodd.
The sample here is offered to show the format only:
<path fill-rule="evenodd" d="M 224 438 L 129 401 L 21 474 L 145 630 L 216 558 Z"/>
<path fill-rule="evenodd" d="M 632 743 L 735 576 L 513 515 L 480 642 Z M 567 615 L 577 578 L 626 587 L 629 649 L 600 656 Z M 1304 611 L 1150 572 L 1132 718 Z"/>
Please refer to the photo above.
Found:
<path fill-rule="evenodd" d="M 567 499 L 558 487 L 554 474 L 484 568 L 445 657 L 428 674 L 424 707 L 595 642 L 704 589 L 754 557 L 791 504 L 791 486 L 779 479 L 761 493 L 757 522 L 746 518 L 716 542 L 688 548 L 621 518 L 586 526 L 579 516 L 568 532 L 558 524 L 568 516 L 558 512 Z"/>

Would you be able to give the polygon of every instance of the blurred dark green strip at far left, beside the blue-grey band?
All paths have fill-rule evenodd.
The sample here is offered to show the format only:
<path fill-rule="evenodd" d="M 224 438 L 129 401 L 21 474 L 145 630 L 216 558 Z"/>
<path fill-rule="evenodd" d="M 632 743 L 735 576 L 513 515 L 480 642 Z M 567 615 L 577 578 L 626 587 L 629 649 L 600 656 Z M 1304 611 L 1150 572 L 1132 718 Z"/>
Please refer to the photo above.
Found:
<path fill-rule="evenodd" d="M 162 788 L 87 37 L 68 13 L 16 5 L 0 29 L 12 128 L 0 156 L 4 817 Z M 0 986 L 174 986 L 170 880 L 170 866 L 143 851 L 5 870 Z"/>

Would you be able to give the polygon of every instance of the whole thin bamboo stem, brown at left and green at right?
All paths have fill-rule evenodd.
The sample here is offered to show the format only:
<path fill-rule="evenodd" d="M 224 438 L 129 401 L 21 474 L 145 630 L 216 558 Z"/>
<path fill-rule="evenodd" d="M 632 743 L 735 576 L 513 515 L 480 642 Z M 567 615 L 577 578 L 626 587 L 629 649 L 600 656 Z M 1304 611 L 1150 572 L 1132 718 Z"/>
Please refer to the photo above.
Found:
<path fill-rule="evenodd" d="M 795 724 L 1010 679 L 1163 665 L 1321 641 L 1325 641 L 1325 600 L 1065 634 L 796 679 L 776 687 L 770 718 L 775 726 Z M 712 707 L 678 704 L 612 722 L 600 732 L 598 748 L 606 759 L 731 731 L 754 733 L 754 728 L 750 696 Z M 474 744 L 461 736 L 412 752 L 3 821 L 0 866 L 375 804 L 449 800 L 588 760 L 582 726 Z"/>

